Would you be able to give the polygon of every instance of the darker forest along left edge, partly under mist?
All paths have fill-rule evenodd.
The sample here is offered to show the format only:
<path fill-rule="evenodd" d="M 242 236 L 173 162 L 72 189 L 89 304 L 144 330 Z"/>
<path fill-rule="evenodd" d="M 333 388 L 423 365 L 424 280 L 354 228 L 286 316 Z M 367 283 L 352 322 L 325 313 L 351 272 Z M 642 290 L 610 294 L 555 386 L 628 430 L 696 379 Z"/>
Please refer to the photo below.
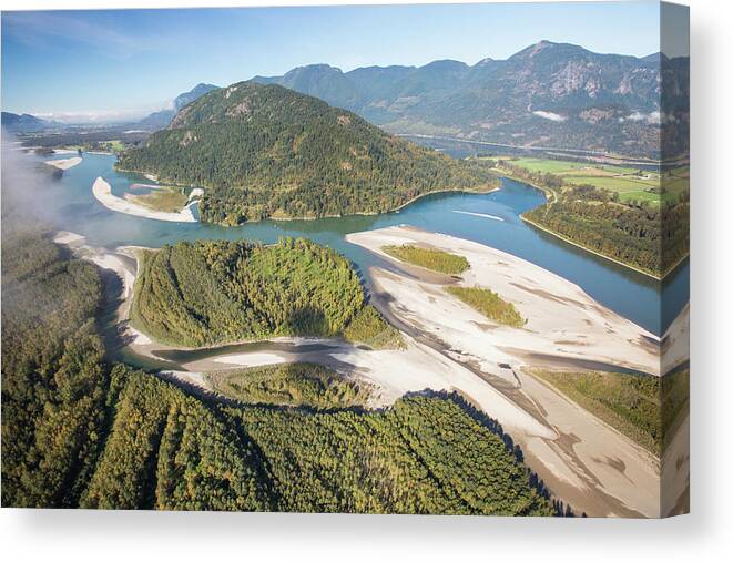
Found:
<path fill-rule="evenodd" d="M 94 266 L 2 233 L 2 504 L 71 508 L 94 470 L 108 378 Z M 34 227 L 35 229 L 35 227 Z"/>

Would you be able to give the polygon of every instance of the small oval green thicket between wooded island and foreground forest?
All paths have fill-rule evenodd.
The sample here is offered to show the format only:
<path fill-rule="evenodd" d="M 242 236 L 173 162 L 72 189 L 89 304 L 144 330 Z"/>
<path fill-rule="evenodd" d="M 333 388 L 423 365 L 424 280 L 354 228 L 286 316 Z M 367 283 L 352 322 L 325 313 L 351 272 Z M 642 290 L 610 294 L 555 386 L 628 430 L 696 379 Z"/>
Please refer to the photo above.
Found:
<path fill-rule="evenodd" d="M 207 375 L 214 389 L 245 403 L 315 409 L 366 406 L 371 388 L 312 364 L 285 364 Z"/>

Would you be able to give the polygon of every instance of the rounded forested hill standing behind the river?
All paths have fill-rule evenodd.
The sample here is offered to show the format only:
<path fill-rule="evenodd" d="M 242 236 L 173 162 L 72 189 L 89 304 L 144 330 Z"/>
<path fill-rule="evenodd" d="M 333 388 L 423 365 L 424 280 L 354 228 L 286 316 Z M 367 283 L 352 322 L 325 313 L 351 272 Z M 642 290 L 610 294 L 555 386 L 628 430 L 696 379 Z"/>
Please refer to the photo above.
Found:
<path fill-rule="evenodd" d="M 432 191 L 496 183 L 479 162 L 394 137 L 346 110 L 275 85 L 240 82 L 183 108 L 121 155 L 121 170 L 206 188 L 203 221 L 381 213 Z"/>

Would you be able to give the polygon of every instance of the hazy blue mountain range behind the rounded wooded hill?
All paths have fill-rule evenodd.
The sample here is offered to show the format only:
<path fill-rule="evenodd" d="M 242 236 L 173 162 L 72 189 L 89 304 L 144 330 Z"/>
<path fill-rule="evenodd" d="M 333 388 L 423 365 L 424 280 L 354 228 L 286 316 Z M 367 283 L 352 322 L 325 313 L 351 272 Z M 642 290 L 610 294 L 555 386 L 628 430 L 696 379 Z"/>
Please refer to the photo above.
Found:
<path fill-rule="evenodd" d="M 442 135 L 660 157 L 688 150 L 689 58 L 599 54 L 540 41 L 506 60 L 469 67 L 326 64 L 256 76 L 344 108 L 398 134 Z M 661 98 L 661 83 L 671 95 Z"/>

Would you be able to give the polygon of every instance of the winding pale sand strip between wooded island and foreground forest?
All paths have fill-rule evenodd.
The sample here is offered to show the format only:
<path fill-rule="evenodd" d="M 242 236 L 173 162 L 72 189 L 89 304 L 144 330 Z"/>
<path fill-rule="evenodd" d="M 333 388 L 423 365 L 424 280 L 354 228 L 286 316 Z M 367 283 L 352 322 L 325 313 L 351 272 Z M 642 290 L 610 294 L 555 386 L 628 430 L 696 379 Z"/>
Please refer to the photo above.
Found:
<path fill-rule="evenodd" d="M 154 341 L 133 329 L 129 324 L 134 282 L 138 274 L 140 247 L 124 246 L 113 251 L 94 248 L 83 236 L 59 232 L 54 242 L 70 247 L 74 254 L 93 262 L 104 269 L 113 270 L 123 286 L 115 321 L 120 338 L 134 355 L 152 361 L 167 361 L 169 372 L 187 372 L 201 380 L 208 371 L 242 369 L 276 365 L 281 362 L 315 362 L 347 377 L 363 379 L 376 387 L 368 403 L 371 408 L 384 408 L 407 392 L 432 390 L 457 390 L 480 409 L 495 418 L 509 421 L 509 426 L 521 428 L 535 437 L 554 438 L 551 428 L 539 423 L 531 415 L 518 408 L 491 385 L 474 375 L 465 366 L 444 357 L 429 346 L 407 337 L 404 349 L 371 350 L 337 338 L 281 337 L 267 341 L 223 345 L 218 348 L 174 348 Z M 173 359 L 172 356 L 180 358 Z M 179 376 L 177 378 L 181 378 Z"/>

